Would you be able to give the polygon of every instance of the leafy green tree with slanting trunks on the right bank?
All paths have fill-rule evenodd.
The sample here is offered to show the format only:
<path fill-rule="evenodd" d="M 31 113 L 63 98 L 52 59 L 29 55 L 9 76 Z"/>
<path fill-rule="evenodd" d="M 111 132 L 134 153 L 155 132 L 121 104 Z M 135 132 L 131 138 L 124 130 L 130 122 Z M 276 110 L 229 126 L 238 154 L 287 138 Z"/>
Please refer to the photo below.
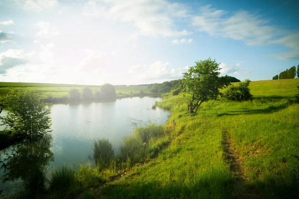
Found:
<path fill-rule="evenodd" d="M 220 68 L 215 60 L 209 58 L 195 64 L 183 75 L 184 91 L 189 94 L 186 96 L 187 111 L 190 113 L 196 113 L 202 102 L 217 99 L 219 89 L 228 85 L 219 78 Z"/>

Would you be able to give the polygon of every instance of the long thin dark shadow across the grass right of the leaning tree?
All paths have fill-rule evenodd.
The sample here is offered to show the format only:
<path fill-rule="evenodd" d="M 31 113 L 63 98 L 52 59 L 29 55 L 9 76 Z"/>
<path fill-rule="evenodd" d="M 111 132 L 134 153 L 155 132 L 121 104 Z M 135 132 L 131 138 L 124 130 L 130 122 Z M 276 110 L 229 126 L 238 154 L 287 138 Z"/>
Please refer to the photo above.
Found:
<path fill-rule="evenodd" d="M 291 104 L 294 103 L 294 100 L 288 100 L 288 102 L 281 103 L 279 105 L 270 105 L 268 108 L 264 109 L 246 109 L 246 110 L 238 110 L 238 111 L 228 111 L 224 113 L 217 114 L 217 116 L 224 116 L 224 115 L 246 115 L 246 114 L 268 114 L 280 111 L 289 107 Z"/>

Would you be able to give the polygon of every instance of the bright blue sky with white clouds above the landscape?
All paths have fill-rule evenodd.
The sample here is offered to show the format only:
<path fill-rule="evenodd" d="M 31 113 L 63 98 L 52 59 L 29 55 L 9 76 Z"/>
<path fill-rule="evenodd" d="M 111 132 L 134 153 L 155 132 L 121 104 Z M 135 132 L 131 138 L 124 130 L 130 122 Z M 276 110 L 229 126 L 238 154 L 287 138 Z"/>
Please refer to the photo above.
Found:
<path fill-rule="evenodd" d="M 0 82 L 137 85 L 299 65 L 298 0 L 1 0 Z"/>

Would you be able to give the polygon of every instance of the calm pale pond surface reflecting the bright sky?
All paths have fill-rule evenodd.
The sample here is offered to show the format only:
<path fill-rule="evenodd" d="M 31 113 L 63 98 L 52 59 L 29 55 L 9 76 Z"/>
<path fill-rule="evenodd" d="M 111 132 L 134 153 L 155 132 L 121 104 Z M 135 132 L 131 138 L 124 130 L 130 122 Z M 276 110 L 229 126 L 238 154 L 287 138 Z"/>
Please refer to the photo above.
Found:
<path fill-rule="evenodd" d="M 54 161 L 49 163 L 48 171 L 61 165 L 76 165 L 78 168 L 79 164 L 89 163 L 94 139 L 107 138 L 118 151 L 122 140 L 131 135 L 135 127 L 149 122 L 165 123 L 170 112 L 158 107 L 151 109 L 152 104 L 160 100 L 144 97 L 113 102 L 54 104 L 50 148 Z M 0 156 L 0 160 L 3 157 Z M 3 169 L 0 169 L 0 178 L 2 175 Z M 17 184 L 20 184 L 19 181 L 0 182 L 0 190 L 13 189 Z"/>

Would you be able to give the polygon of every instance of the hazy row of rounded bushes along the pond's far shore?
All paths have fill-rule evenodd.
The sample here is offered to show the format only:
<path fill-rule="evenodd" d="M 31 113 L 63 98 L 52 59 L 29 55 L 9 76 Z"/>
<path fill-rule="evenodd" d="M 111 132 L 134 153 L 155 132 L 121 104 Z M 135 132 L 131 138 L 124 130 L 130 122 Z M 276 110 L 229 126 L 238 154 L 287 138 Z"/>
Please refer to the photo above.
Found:
<path fill-rule="evenodd" d="M 71 89 L 68 96 L 53 98 L 49 96 L 45 102 L 66 102 L 66 101 L 114 101 L 116 100 L 115 87 L 111 84 L 104 84 L 101 89 L 93 92 L 89 87 L 84 87 L 82 91 Z"/>

